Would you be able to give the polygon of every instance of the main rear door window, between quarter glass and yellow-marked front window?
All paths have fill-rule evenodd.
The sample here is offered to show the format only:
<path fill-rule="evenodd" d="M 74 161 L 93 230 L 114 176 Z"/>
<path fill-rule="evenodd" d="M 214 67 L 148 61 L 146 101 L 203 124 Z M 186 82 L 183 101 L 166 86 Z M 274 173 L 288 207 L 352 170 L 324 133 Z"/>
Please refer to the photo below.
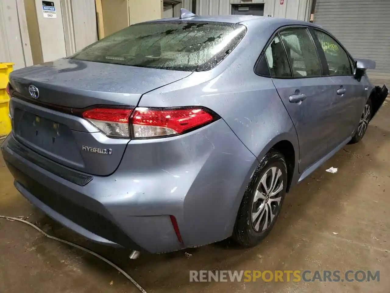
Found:
<path fill-rule="evenodd" d="M 280 32 L 294 77 L 321 76 L 321 65 L 316 46 L 305 28 L 291 28 Z"/>

